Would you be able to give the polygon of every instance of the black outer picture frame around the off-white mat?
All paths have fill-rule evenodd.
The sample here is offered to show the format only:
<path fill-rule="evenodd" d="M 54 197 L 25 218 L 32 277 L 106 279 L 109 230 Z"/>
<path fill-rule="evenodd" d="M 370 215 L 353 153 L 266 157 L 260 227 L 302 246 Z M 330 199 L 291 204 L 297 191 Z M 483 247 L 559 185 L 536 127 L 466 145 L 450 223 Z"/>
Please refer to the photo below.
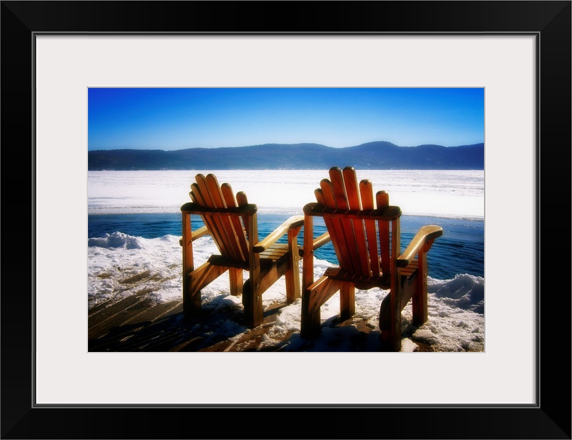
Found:
<path fill-rule="evenodd" d="M 0 14 L 2 439 L 571 439 L 571 1 L 1 1 Z M 536 35 L 536 404 L 36 408 L 32 92 L 46 32 Z"/>

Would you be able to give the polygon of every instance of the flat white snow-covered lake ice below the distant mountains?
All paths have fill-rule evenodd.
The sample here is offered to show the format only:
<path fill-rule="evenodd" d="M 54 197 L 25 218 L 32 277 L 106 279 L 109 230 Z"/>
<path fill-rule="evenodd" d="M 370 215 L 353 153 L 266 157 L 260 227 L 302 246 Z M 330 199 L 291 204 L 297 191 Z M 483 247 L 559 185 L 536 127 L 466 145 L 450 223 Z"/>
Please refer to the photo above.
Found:
<path fill-rule="evenodd" d="M 299 214 L 327 170 L 89 171 L 88 214 L 179 212 L 195 175 L 213 173 L 260 212 Z M 404 214 L 483 219 L 484 170 L 358 170 Z"/>

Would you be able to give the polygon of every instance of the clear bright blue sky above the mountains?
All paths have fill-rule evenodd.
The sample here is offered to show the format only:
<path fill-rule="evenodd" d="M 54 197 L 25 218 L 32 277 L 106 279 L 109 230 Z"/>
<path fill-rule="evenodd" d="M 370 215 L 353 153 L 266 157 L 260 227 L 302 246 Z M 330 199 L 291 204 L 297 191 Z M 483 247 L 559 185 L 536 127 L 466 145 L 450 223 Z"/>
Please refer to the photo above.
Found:
<path fill-rule="evenodd" d="M 484 142 L 483 88 L 94 88 L 88 149 Z"/>

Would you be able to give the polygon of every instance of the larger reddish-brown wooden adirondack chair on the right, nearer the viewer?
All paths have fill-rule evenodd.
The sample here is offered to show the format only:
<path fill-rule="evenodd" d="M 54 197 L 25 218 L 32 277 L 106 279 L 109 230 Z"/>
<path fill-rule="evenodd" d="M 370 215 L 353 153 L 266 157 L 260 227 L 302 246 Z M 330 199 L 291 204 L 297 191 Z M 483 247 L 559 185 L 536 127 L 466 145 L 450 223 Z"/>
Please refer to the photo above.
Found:
<path fill-rule="evenodd" d="M 320 333 L 320 307 L 340 291 L 340 316 L 355 313 L 355 287 L 390 289 L 380 307 L 382 351 L 401 350 L 401 310 L 412 298 L 413 323 L 427 320 L 426 253 L 434 239 L 443 234 L 436 225 L 419 229 L 401 254 L 399 217 L 401 209 L 389 205 L 385 191 L 377 192 L 374 208 L 371 181 L 358 184 L 355 169 L 329 170 L 315 191 L 317 203 L 304 207 L 303 295 L 301 336 L 315 338 Z M 313 239 L 313 218 L 323 217 L 339 267 L 329 267 L 314 282 L 314 252 L 327 243 L 327 236 Z M 378 241 L 379 238 L 379 241 Z M 417 259 L 415 258 L 417 256 Z"/>

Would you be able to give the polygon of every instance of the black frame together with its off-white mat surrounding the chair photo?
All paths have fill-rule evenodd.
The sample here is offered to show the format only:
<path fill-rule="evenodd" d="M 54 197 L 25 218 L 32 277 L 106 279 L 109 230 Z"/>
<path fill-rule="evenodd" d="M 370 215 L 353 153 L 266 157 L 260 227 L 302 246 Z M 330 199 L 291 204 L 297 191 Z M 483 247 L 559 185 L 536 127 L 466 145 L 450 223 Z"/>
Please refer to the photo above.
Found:
<path fill-rule="evenodd" d="M 571 438 L 570 1 L 1 8 L 3 438 Z M 485 348 L 90 350 L 89 94 L 143 88 L 483 91 Z"/>

